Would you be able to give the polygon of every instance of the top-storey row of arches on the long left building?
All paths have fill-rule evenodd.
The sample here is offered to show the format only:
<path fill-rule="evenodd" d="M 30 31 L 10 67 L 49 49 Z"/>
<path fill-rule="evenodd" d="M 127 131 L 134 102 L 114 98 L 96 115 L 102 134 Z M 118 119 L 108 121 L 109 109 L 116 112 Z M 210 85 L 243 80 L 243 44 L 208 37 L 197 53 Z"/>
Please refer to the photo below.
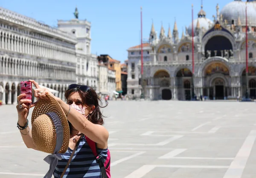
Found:
<path fill-rule="evenodd" d="M 58 60 L 75 60 L 75 49 L 0 31 L 0 49 Z"/>

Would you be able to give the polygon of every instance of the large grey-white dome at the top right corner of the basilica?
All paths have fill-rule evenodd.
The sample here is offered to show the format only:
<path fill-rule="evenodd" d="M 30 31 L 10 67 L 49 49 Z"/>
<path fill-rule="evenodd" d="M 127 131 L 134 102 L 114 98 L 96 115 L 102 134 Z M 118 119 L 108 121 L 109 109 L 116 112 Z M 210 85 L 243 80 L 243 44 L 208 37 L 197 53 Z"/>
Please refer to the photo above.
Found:
<path fill-rule="evenodd" d="M 253 7 L 254 2 L 247 3 L 247 20 L 248 25 L 256 26 L 256 10 Z M 245 26 L 245 7 L 246 3 L 240 0 L 235 0 L 228 3 L 221 9 L 220 14 L 222 14 L 223 20 L 227 20 L 228 24 L 232 22 L 236 25 L 238 17 L 241 20 L 241 26 Z"/>

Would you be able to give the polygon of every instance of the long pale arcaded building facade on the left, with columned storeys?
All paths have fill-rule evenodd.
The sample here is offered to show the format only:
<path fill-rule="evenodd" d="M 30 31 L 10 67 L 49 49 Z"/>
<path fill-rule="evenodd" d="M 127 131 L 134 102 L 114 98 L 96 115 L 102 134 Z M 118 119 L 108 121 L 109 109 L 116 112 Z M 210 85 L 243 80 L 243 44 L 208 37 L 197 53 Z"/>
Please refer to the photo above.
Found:
<path fill-rule="evenodd" d="M 76 36 L 0 7 L 0 100 L 17 103 L 20 81 L 35 79 L 64 99 L 76 82 Z M 1 96 L 2 95 L 2 96 Z"/>

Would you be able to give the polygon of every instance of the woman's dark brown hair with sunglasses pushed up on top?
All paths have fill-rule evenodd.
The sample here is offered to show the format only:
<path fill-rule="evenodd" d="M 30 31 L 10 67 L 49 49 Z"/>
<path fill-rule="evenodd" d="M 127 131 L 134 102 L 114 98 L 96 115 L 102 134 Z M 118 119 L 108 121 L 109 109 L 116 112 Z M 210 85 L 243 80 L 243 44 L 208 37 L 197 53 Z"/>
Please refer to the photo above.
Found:
<path fill-rule="evenodd" d="M 84 85 L 84 84 L 79 83 L 78 85 Z M 91 114 L 89 114 L 88 120 L 94 124 L 103 125 L 104 124 L 104 121 L 103 121 L 104 116 L 102 115 L 100 108 L 104 108 L 104 107 L 108 106 L 108 103 L 106 104 L 106 106 L 102 106 L 102 101 L 99 99 L 99 96 L 97 95 L 95 90 L 90 86 L 89 86 L 89 88 L 90 89 L 87 92 L 81 91 L 79 88 L 67 89 L 64 96 L 67 100 L 67 98 L 69 97 L 69 95 L 71 93 L 78 92 L 82 99 L 83 106 L 84 105 L 87 105 L 90 107 L 95 106 L 95 109 L 93 110 L 93 112 Z M 101 103 L 101 104 L 99 104 L 99 103 Z"/>

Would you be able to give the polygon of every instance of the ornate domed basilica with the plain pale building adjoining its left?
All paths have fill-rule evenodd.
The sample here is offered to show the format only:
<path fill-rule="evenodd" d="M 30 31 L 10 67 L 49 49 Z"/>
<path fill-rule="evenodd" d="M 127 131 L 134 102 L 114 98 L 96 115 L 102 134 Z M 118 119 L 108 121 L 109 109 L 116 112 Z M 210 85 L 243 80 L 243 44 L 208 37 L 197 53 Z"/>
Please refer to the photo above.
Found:
<path fill-rule="evenodd" d="M 177 23 L 166 36 L 152 24 L 149 43 L 143 45 L 145 95 L 151 100 L 190 100 L 192 82 L 195 95 L 209 99 L 244 96 L 246 83 L 251 98 L 256 96 L 256 1 L 247 3 L 248 28 L 245 26 L 246 3 L 235 0 L 219 11 L 213 21 L 201 7 L 194 26 L 186 28 L 179 39 Z M 194 29 L 195 72 L 192 78 L 192 28 Z M 245 78 L 245 32 L 248 32 L 248 80 Z M 140 46 L 128 49 L 128 94 L 140 95 Z M 144 54 L 143 54 L 144 55 Z M 147 58 L 148 57 L 148 58 Z M 134 66 L 134 67 L 133 67 Z M 134 76 L 133 76 L 134 75 Z M 133 94 L 134 93 L 134 94 Z"/>

